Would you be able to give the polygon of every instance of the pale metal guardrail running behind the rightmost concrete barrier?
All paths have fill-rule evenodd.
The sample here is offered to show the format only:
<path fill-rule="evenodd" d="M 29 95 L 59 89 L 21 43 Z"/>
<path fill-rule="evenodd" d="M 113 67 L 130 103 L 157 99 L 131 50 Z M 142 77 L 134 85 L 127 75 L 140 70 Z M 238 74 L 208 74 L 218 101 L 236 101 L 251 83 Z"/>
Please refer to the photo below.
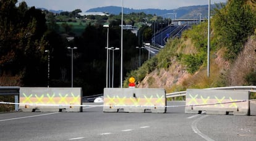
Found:
<path fill-rule="evenodd" d="M 231 86 L 231 87 L 212 87 L 212 88 L 207 88 L 211 90 L 218 90 L 218 89 L 225 89 L 225 90 L 248 90 L 251 92 L 256 92 L 256 86 Z M 187 91 L 181 91 L 181 92 L 172 92 L 169 94 L 166 94 L 166 98 L 173 98 L 173 97 L 184 97 L 186 96 Z"/>

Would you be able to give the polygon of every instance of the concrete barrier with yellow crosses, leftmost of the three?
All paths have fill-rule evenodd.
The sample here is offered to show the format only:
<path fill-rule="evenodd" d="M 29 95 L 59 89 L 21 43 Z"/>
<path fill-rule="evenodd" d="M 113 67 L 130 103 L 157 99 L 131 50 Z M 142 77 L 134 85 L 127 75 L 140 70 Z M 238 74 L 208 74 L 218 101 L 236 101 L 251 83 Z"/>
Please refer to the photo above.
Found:
<path fill-rule="evenodd" d="M 82 111 L 80 87 L 20 87 L 21 111 Z"/>

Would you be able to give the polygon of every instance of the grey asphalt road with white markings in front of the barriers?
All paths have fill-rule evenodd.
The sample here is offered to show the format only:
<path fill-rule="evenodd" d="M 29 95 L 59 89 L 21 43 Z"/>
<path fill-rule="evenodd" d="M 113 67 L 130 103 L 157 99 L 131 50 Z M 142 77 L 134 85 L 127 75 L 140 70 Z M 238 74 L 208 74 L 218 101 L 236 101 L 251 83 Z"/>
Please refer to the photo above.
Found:
<path fill-rule="evenodd" d="M 82 113 L 5 113 L 0 115 L 0 140 L 255 141 L 256 103 L 250 106 L 252 116 L 192 115 L 184 107 L 167 113 L 103 113 L 102 107 L 83 108 Z"/>

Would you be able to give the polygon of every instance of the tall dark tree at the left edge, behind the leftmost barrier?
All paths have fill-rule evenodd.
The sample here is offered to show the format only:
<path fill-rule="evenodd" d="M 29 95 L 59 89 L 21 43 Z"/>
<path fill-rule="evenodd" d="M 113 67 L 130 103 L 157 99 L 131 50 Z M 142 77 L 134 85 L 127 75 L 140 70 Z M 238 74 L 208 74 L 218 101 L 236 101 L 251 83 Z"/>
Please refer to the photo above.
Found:
<path fill-rule="evenodd" d="M 22 74 L 23 83 L 36 84 L 40 82 L 40 76 L 36 75 L 41 70 L 41 57 L 47 44 L 43 36 L 45 15 L 35 7 L 28 9 L 25 2 L 19 7 L 16 3 L 0 1 L 0 75 Z"/>

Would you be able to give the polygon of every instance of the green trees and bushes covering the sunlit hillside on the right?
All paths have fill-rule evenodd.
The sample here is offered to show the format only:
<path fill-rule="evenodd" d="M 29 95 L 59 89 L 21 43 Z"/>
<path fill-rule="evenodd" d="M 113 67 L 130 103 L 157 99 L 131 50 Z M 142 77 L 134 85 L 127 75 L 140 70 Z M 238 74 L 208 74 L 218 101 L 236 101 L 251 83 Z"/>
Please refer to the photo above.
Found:
<path fill-rule="evenodd" d="M 221 5 L 221 9 L 212 11 L 209 78 L 206 76 L 207 22 L 194 25 L 182 34 L 181 39 L 169 40 L 155 58 L 132 71 L 127 78 L 134 76 L 138 84 L 143 84 L 145 76 L 150 73 L 160 74 L 161 69 L 165 69 L 174 75 L 173 68 L 181 64 L 190 76 L 181 84 L 174 81 L 172 86 L 166 86 L 168 91 L 184 91 L 192 87 L 255 85 L 255 5 L 255 1 L 228 1 L 226 6 Z M 220 57 L 224 58 L 223 64 L 216 62 Z M 147 83 L 156 83 L 158 78 L 160 76 L 150 75 Z M 127 79 L 124 83 L 127 85 Z"/>

